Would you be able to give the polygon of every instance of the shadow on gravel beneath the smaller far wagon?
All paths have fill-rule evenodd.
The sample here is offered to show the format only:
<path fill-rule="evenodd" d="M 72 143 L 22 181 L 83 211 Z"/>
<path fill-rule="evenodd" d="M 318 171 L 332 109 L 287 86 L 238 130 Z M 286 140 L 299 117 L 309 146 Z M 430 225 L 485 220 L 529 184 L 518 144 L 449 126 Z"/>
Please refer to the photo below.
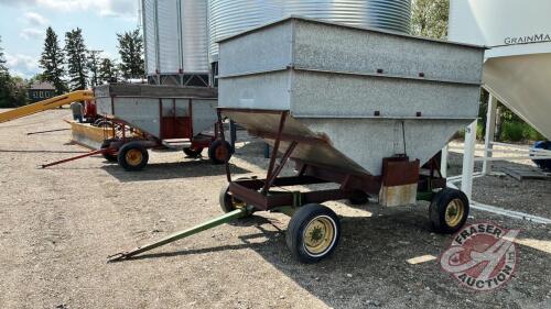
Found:
<path fill-rule="evenodd" d="M 126 172 L 117 164 L 104 165 L 101 168 L 121 183 L 219 176 L 226 174 L 224 165 L 213 165 L 206 159 L 148 164 L 140 172 Z M 250 170 L 234 164 L 230 164 L 230 169 L 233 175 L 250 173 Z"/>

